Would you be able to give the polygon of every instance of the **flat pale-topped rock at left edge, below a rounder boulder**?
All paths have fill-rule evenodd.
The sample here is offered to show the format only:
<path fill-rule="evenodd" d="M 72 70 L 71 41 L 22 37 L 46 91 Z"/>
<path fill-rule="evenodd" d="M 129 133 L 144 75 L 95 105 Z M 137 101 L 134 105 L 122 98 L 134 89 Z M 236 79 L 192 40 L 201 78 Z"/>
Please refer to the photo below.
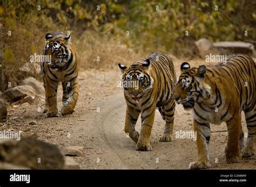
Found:
<path fill-rule="evenodd" d="M 5 99 L 8 102 L 14 103 L 23 99 L 26 96 L 36 96 L 36 91 L 30 85 L 20 85 L 10 88 L 0 94 L 0 99 Z"/>

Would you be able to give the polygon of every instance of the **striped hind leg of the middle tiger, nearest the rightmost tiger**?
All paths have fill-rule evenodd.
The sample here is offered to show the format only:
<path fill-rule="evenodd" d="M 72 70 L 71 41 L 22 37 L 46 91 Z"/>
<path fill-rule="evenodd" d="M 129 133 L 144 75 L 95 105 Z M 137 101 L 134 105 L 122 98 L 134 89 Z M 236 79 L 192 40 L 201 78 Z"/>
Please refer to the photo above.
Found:
<path fill-rule="evenodd" d="M 165 113 L 165 128 L 163 135 L 159 141 L 172 141 L 173 133 L 173 122 L 174 122 L 174 111 L 175 111 L 175 102 L 172 100 L 169 104 L 164 107 Z"/>

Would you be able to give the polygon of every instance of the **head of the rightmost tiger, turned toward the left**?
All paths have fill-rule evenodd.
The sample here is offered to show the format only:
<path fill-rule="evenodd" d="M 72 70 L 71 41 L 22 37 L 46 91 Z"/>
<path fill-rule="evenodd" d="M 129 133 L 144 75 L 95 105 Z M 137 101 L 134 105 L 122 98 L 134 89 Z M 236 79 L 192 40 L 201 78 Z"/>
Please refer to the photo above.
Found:
<path fill-rule="evenodd" d="M 210 98 L 211 87 L 206 84 L 206 66 L 191 68 L 190 64 L 183 62 L 180 67 L 181 74 L 176 82 L 173 98 L 182 104 L 185 110 L 194 107 L 194 103 L 201 99 Z"/>

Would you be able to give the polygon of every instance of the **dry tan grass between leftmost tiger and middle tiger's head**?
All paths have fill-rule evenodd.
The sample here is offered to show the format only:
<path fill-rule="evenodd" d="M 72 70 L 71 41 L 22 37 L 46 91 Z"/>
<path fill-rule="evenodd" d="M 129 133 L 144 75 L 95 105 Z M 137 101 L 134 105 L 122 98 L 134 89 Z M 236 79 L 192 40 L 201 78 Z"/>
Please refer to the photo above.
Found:
<path fill-rule="evenodd" d="M 73 36 L 75 33 L 72 34 Z M 122 44 L 120 39 L 113 39 L 101 34 L 85 31 L 73 37 L 82 69 L 113 69 L 118 63 L 131 64 L 138 58 L 146 57 Z"/>

